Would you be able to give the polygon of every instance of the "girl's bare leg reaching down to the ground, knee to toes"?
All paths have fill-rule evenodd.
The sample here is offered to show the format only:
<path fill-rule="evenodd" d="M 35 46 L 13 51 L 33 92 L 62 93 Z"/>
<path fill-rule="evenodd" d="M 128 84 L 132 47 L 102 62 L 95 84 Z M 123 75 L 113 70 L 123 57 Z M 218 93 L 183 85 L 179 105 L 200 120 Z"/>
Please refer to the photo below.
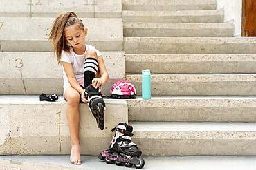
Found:
<path fill-rule="evenodd" d="M 80 140 L 79 140 L 79 126 L 80 126 L 80 94 L 76 89 L 69 87 L 66 89 L 64 98 L 67 100 L 66 117 L 68 120 L 69 133 L 71 134 L 71 163 L 80 165 Z"/>

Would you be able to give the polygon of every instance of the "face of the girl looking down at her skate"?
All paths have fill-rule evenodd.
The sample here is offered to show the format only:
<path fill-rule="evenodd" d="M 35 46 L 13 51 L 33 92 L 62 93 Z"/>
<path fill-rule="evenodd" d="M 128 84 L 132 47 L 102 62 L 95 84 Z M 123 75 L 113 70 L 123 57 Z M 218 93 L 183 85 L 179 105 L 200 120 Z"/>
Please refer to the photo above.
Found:
<path fill-rule="evenodd" d="M 80 49 L 85 45 L 87 28 L 81 29 L 78 25 L 72 25 L 65 29 L 66 41 L 75 49 Z"/>

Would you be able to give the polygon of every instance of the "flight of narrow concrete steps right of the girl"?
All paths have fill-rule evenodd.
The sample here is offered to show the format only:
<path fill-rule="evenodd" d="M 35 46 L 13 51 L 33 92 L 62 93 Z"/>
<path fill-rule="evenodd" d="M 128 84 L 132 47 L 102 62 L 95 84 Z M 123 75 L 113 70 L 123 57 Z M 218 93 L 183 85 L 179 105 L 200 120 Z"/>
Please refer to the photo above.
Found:
<path fill-rule="evenodd" d="M 139 95 L 152 70 L 152 100 L 127 101 L 143 153 L 254 156 L 256 40 L 232 37 L 216 1 L 123 3 L 126 78 Z"/>

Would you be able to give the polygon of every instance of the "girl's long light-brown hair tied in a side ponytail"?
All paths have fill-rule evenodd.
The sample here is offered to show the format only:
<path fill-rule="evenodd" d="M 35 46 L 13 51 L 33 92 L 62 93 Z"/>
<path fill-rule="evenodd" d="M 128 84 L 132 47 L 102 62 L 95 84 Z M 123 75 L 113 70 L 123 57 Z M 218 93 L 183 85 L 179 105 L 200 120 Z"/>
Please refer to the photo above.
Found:
<path fill-rule="evenodd" d="M 84 29 L 84 24 L 81 19 L 78 19 L 75 12 L 62 12 L 59 14 L 53 22 L 48 40 L 53 45 L 53 53 L 57 56 L 57 63 L 60 65 L 60 58 L 62 50 L 69 53 L 69 45 L 66 42 L 64 35 L 65 28 L 77 24 L 80 29 Z"/>

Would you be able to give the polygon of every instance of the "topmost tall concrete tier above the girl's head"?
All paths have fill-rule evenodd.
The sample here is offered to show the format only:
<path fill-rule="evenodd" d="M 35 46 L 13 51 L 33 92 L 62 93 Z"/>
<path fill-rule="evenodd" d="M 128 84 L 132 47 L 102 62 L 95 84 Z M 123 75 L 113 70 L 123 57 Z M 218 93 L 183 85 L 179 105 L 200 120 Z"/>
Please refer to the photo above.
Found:
<path fill-rule="evenodd" d="M 56 17 L 63 11 L 75 11 L 79 17 L 86 18 L 119 18 L 122 0 L 12 0 L 0 6 L 0 16 L 5 17 Z"/>

